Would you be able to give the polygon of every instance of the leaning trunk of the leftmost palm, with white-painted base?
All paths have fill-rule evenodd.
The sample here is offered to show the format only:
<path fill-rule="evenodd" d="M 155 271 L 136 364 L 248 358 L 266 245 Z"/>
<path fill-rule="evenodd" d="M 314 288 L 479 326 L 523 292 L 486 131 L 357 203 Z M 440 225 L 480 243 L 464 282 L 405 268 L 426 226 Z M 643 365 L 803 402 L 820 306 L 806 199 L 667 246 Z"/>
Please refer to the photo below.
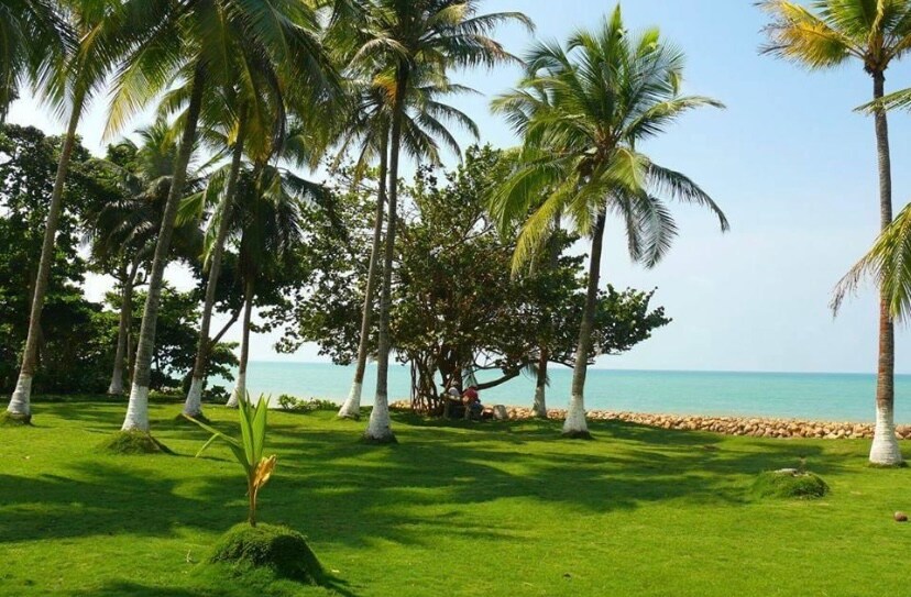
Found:
<path fill-rule="evenodd" d="M 57 163 L 57 175 L 54 178 L 54 190 L 51 192 L 51 207 L 47 211 L 47 224 L 44 229 L 44 242 L 41 246 L 35 290 L 32 296 L 32 309 L 29 316 L 29 335 L 25 340 L 25 352 L 22 355 L 22 368 L 15 384 L 7 412 L 14 419 L 29 422 L 32 419 L 32 378 L 37 368 L 39 341 L 41 339 L 41 312 L 44 309 L 44 297 L 47 294 L 47 283 L 51 278 L 51 267 L 54 265 L 54 240 L 57 235 L 57 225 L 63 210 L 63 191 L 66 183 L 66 173 L 69 169 L 69 158 L 76 145 L 76 128 L 79 125 L 79 115 L 83 112 L 85 93 L 77 91 L 73 98 L 73 112 L 66 128 L 61 159 Z"/>

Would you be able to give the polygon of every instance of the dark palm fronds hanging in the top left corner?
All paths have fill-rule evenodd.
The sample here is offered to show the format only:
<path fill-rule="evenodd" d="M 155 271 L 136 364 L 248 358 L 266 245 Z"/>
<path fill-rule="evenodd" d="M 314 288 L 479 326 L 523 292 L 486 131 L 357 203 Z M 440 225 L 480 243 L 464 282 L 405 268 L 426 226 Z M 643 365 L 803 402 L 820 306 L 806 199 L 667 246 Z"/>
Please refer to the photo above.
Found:
<path fill-rule="evenodd" d="M 59 64 L 75 35 L 56 2 L 4 0 L 0 3 L 0 124 L 29 79 Z"/>

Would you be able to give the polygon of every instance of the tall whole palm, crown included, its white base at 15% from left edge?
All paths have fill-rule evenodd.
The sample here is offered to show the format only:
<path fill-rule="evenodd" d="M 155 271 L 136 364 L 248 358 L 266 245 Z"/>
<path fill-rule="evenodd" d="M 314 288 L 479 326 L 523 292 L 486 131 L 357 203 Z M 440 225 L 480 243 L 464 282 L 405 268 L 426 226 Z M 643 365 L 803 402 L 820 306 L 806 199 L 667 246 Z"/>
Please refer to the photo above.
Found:
<path fill-rule="evenodd" d="M 149 3 L 132 0 L 136 10 Z M 237 56 L 257 56 L 287 73 L 288 92 L 328 89 L 331 65 L 319 41 L 319 23 L 311 7 L 296 0 L 213 0 L 211 2 L 163 2 L 158 20 L 145 20 L 150 33 L 135 44 L 114 78 L 109 131 L 114 131 L 175 80 L 189 81 L 184 130 L 174 185 L 158 232 L 149 278 L 136 349 L 130 402 L 122 429 L 149 430 L 149 385 L 155 324 L 164 269 L 180 202 L 180 189 L 204 109 L 206 88 L 228 88 L 238 79 Z M 241 63 L 243 64 L 243 63 Z M 241 77 L 242 82 L 253 82 Z M 254 96 L 251 92 L 250 96 Z"/>

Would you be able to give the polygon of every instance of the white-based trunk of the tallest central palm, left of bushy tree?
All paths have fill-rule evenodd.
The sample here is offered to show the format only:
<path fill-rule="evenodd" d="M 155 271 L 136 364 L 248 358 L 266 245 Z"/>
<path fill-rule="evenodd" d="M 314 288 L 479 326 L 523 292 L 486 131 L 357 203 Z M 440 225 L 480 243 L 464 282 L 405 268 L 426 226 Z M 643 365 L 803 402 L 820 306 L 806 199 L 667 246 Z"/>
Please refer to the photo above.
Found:
<path fill-rule="evenodd" d="M 364 439 L 374 443 L 395 443 L 389 419 L 388 373 L 392 341 L 389 339 L 389 309 L 392 308 L 392 269 L 395 257 L 395 226 L 398 214 L 398 158 L 402 144 L 402 112 L 408 88 L 408 69 L 398 65 L 395 102 L 393 104 L 392 139 L 389 151 L 389 214 L 386 225 L 386 246 L 383 254 L 383 290 L 380 295 L 380 338 L 376 356 L 376 397 L 370 412 L 370 423 Z"/>

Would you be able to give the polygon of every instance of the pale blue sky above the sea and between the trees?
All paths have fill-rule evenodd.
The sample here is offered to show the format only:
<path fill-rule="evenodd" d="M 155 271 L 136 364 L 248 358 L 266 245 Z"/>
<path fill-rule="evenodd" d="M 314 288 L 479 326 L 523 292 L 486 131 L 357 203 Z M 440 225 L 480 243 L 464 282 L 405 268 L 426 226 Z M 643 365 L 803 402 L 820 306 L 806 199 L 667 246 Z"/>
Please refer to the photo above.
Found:
<path fill-rule="evenodd" d="M 522 11 L 542 40 L 566 40 L 599 26 L 614 2 L 591 0 L 489 0 L 485 12 Z M 596 366 L 635 369 L 874 372 L 876 294 L 871 287 L 849 300 L 837 318 L 828 309 L 832 289 L 869 248 L 879 221 L 872 120 L 854 112 L 869 101 L 871 79 L 860 65 L 808 73 L 761 56 L 765 15 L 749 0 L 628 0 L 627 27 L 658 26 L 687 55 L 684 91 L 711 96 L 725 110 L 684 115 L 662 136 L 639 147 L 657 163 L 685 173 L 726 212 L 722 234 L 704 210 L 676 206 L 680 235 L 652 269 L 629 262 L 623 230 L 608 223 L 603 285 L 657 288 L 655 303 L 673 322 L 627 354 L 602 357 Z M 496 38 L 522 55 L 531 36 L 504 26 Z M 480 125 L 481 142 L 517 143 L 490 114 L 490 99 L 518 79 L 515 66 L 458 73 L 453 78 L 480 97 L 453 103 Z M 911 60 L 887 73 L 887 90 L 911 87 Z M 103 151 L 105 102 L 98 101 L 79 133 L 86 146 Z M 10 121 L 61 132 L 59 122 L 31 98 L 12 107 Z M 134 126 L 147 122 L 135 119 Z M 890 114 L 896 212 L 911 192 L 911 114 Z M 472 140 L 465 134 L 460 140 Z M 454 158 L 450 159 L 454 163 Z M 169 267 L 178 286 L 185 272 Z M 91 278 L 86 291 L 99 298 L 110 280 Z M 224 321 L 227 318 L 222 318 Z M 219 328 L 218 321 L 215 329 Z M 239 340 L 234 329 L 227 340 Z M 293 355 L 273 350 L 275 335 L 254 335 L 254 361 L 325 361 L 315 345 Z M 899 329 L 899 373 L 911 373 L 911 334 Z"/>

